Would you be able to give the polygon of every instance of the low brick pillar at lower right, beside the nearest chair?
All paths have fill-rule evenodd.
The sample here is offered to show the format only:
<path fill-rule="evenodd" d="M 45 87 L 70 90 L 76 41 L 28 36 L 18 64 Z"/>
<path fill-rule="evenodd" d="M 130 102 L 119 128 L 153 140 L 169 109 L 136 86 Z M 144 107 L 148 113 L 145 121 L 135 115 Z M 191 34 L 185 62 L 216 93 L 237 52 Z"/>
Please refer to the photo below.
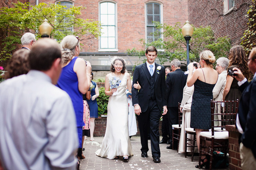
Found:
<path fill-rule="evenodd" d="M 239 132 L 235 125 L 226 125 L 228 131 L 228 148 L 229 148 L 229 169 L 242 170 L 239 153 Z"/>

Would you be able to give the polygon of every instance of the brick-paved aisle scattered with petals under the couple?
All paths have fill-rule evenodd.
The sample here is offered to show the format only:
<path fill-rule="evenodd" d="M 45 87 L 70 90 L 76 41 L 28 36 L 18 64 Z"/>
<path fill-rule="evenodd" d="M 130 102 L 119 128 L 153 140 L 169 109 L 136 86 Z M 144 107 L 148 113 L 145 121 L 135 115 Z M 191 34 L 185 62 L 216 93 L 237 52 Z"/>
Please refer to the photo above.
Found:
<path fill-rule="evenodd" d="M 95 141 L 89 140 L 84 141 L 83 154 L 85 159 L 81 159 L 80 170 L 120 170 L 120 169 L 130 169 L 130 170 L 198 170 L 195 165 L 198 164 L 198 156 L 194 157 L 194 161 L 191 162 L 191 157 L 184 157 L 184 154 L 178 154 L 177 150 L 166 149 L 167 144 L 160 144 L 161 150 L 161 163 L 154 163 L 151 149 L 150 140 L 148 140 L 149 152 L 148 158 L 142 158 L 140 156 L 140 137 L 131 137 L 132 151 L 134 156 L 129 158 L 128 162 L 124 162 L 121 158 L 109 160 L 107 158 L 101 158 L 95 155 L 95 151 L 100 149 L 103 137 L 94 137 Z M 228 168 L 225 170 L 229 170 Z"/>

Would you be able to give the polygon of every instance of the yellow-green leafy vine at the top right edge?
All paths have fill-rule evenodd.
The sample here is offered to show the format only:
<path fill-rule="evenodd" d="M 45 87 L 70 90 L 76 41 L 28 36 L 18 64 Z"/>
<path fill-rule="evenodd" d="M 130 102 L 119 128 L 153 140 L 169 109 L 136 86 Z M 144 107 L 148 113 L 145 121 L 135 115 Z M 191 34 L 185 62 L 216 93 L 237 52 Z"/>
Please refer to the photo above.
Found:
<path fill-rule="evenodd" d="M 244 36 L 241 38 L 241 46 L 244 47 L 246 54 L 249 54 L 253 47 L 256 47 L 256 1 L 253 0 L 253 5 L 247 12 L 248 28 L 244 32 Z"/>

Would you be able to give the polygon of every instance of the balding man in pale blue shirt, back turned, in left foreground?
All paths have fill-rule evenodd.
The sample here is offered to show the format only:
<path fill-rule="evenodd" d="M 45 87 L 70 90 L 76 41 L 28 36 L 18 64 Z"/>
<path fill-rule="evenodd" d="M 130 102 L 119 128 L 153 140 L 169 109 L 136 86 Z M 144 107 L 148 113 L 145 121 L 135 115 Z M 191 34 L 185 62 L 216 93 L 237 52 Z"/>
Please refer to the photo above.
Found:
<path fill-rule="evenodd" d="M 61 49 L 41 39 L 29 54 L 31 70 L 0 84 L 0 162 L 4 169 L 75 169 L 78 147 L 74 108 L 54 86 Z"/>

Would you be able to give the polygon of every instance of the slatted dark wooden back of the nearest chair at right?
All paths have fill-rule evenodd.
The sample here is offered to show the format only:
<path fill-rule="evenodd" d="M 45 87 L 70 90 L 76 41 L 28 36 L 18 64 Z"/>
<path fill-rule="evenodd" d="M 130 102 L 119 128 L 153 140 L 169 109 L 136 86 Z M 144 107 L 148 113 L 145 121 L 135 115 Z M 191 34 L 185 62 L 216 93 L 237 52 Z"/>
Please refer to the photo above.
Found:
<path fill-rule="evenodd" d="M 230 124 L 235 124 L 237 112 L 238 112 L 238 100 L 236 101 L 212 101 L 211 100 L 212 136 L 214 136 L 215 127 L 221 127 L 220 131 L 224 131 L 223 129 L 225 128 L 225 122 L 229 122 Z M 217 115 L 217 116 L 214 116 L 214 115 Z M 218 115 L 220 115 L 220 118 L 218 117 Z M 230 116 L 227 118 L 226 116 L 228 115 Z M 214 126 L 215 121 L 221 122 L 221 125 Z"/>

